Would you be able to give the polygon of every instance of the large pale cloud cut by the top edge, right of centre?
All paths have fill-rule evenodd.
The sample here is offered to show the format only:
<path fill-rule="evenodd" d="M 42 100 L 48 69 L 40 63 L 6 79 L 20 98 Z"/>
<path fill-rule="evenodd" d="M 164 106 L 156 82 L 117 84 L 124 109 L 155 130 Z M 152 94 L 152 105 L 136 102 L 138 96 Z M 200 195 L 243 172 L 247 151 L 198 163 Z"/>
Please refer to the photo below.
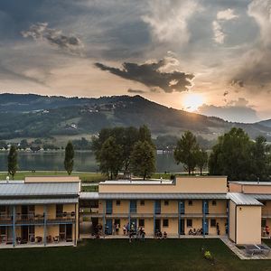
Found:
<path fill-rule="evenodd" d="M 190 39 L 188 20 L 201 10 L 198 1 L 154 0 L 149 4 L 149 12 L 142 16 L 148 23 L 154 39 L 159 42 L 178 42 L 179 46 Z"/>

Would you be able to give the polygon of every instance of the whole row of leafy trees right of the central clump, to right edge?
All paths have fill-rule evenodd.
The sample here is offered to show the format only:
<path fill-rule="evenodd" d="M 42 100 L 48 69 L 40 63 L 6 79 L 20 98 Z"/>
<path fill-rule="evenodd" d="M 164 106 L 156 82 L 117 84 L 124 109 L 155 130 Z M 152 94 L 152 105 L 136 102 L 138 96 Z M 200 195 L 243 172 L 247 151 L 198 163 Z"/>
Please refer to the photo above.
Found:
<path fill-rule="evenodd" d="M 208 164 L 210 175 L 227 175 L 229 180 L 270 181 L 271 145 L 264 136 L 251 140 L 241 128 L 232 128 L 221 135 L 211 148 L 210 157 L 202 150 L 192 132 L 185 132 L 174 150 L 177 164 L 182 163 L 189 174 Z"/>

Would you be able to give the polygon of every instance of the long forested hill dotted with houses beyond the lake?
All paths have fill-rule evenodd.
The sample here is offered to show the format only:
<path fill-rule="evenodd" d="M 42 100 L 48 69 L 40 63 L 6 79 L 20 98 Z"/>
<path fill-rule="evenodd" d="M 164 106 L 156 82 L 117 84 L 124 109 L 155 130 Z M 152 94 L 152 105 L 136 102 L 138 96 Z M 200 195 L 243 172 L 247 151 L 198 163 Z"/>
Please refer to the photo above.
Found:
<path fill-rule="evenodd" d="M 140 96 L 102 98 L 48 97 L 34 94 L 0 94 L 0 139 L 53 135 L 95 134 L 102 127 L 141 126 L 154 135 L 180 135 L 192 130 L 208 139 L 216 138 L 232 126 L 240 126 L 251 137 L 265 135 L 271 127 L 238 124 L 218 117 L 164 107 Z"/>

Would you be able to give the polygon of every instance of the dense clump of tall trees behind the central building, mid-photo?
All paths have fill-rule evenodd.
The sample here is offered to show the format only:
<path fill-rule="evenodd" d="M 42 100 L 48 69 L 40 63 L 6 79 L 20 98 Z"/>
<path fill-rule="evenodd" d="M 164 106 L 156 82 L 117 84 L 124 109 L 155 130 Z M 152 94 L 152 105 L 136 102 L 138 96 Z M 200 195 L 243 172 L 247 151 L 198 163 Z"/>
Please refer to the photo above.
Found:
<path fill-rule="evenodd" d="M 147 126 L 104 128 L 92 138 L 101 173 L 112 180 L 123 171 L 147 178 L 155 171 L 155 147 Z"/>

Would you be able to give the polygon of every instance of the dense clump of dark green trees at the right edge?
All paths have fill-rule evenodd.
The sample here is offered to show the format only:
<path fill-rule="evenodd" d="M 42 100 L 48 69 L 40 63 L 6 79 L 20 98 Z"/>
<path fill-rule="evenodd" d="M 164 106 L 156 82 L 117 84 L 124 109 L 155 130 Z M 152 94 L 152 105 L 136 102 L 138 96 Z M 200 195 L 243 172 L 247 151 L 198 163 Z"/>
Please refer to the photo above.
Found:
<path fill-rule="evenodd" d="M 209 158 L 211 175 L 227 175 L 229 180 L 270 181 L 271 145 L 264 136 L 252 141 L 241 128 L 221 135 Z"/>

